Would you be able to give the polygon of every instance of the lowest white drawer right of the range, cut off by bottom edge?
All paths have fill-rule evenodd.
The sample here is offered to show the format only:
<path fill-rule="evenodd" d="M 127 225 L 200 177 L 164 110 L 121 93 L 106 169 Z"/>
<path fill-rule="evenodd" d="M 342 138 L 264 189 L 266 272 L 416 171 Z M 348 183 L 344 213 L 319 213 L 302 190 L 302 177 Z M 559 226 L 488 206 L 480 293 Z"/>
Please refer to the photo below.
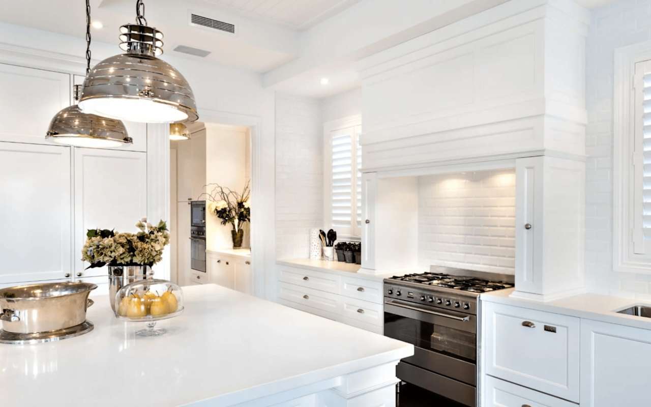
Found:
<path fill-rule="evenodd" d="M 577 407 L 576 404 L 486 376 L 484 407 Z"/>

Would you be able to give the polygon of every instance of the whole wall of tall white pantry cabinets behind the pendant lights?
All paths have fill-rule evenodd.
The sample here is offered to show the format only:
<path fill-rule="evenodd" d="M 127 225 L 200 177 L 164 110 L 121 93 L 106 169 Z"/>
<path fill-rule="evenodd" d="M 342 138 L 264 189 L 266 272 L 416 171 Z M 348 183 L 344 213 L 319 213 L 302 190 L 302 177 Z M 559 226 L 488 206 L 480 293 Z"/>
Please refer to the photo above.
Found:
<path fill-rule="evenodd" d="M 147 126 L 126 124 L 133 145 L 77 148 L 45 139 L 83 77 L 0 63 L 0 287 L 97 283 L 81 260 L 87 229 L 133 231 L 147 213 Z M 158 221 L 158 219 L 156 219 Z"/>

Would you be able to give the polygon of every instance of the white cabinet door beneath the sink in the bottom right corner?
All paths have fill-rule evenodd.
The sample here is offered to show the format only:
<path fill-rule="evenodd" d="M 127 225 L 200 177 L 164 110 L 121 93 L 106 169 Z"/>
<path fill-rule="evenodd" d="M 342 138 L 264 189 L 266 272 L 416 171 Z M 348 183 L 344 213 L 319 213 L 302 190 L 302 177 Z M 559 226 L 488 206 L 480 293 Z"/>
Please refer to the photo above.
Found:
<path fill-rule="evenodd" d="M 581 405 L 651 405 L 651 331 L 581 320 Z"/>

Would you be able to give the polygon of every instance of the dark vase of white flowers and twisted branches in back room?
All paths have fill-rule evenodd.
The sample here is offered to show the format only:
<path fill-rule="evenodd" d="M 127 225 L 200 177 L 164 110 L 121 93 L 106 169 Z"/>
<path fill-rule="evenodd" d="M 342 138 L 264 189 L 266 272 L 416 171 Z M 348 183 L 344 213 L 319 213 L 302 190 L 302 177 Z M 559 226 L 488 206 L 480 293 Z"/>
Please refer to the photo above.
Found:
<path fill-rule="evenodd" d="M 242 246 L 244 232 L 242 227 L 244 223 L 251 221 L 251 206 L 249 206 L 251 188 L 249 182 L 247 181 L 242 193 L 237 193 L 219 184 L 208 184 L 206 186 L 214 186 L 212 191 L 203 194 L 208 197 L 208 211 L 221 219 L 222 225 L 230 223 L 232 226 L 233 247 Z"/>

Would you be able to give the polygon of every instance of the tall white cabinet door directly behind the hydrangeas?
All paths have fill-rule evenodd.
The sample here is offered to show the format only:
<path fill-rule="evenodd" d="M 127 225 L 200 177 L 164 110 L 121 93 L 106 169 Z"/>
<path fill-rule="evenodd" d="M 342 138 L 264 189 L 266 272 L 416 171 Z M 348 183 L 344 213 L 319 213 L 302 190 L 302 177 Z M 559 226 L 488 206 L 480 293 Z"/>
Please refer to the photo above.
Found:
<path fill-rule="evenodd" d="M 75 148 L 75 275 L 107 275 L 105 267 L 90 268 L 81 260 L 88 229 L 135 232 L 147 214 L 145 152 Z M 149 219 L 158 223 L 159 219 Z"/>

